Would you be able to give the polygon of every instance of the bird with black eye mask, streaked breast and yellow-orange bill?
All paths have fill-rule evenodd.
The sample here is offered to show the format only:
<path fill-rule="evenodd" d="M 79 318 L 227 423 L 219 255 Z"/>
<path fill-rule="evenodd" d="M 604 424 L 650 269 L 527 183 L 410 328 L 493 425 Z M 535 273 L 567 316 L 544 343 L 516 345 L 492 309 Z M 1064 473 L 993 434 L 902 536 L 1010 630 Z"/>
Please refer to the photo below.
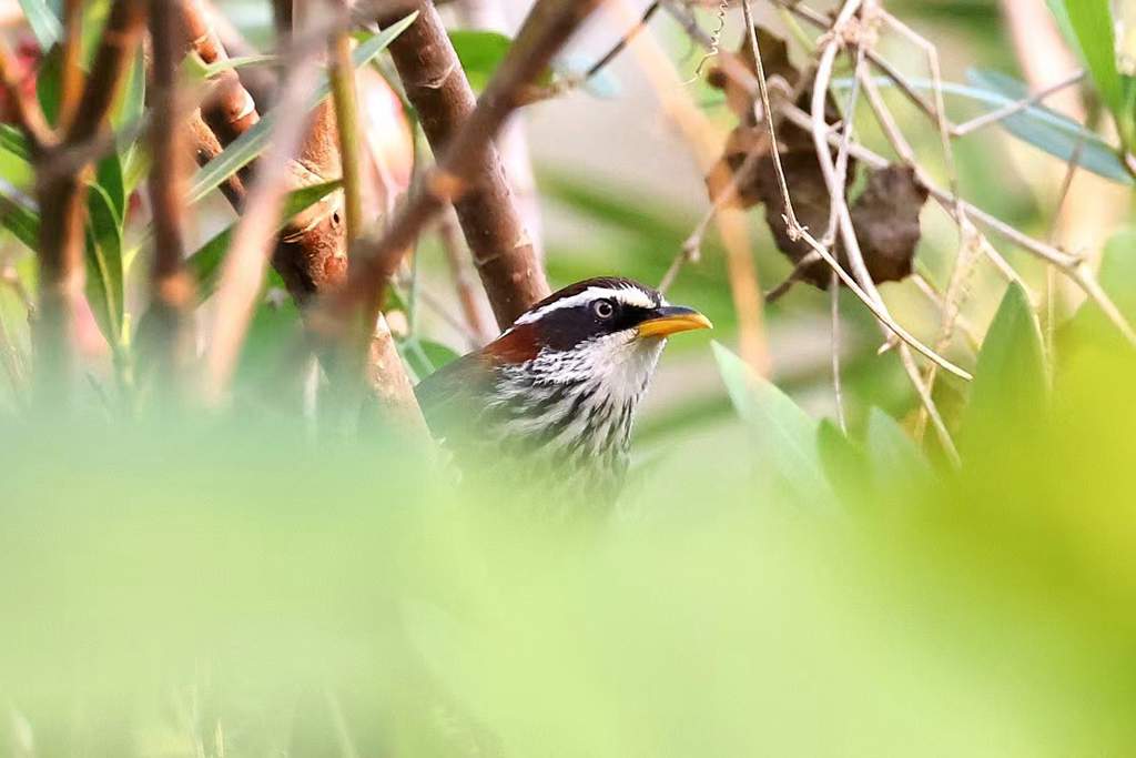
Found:
<path fill-rule="evenodd" d="M 415 392 L 463 476 L 602 508 L 623 488 L 635 414 L 667 338 L 701 328 L 712 328 L 705 316 L 650 286 L 588 278 L 532 306 Z"/>

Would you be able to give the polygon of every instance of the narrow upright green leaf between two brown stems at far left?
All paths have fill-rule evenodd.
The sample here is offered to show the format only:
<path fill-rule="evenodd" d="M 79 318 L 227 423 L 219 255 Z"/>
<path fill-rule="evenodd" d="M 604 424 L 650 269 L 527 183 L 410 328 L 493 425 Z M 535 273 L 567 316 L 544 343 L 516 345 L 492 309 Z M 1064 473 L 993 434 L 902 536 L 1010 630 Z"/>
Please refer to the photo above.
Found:
<path fill-rule="evenodd" d="M 122 342 L 123 234 L 114 200 L 98 184 L 87 194 L 86 299 L 107 342 Z"/>

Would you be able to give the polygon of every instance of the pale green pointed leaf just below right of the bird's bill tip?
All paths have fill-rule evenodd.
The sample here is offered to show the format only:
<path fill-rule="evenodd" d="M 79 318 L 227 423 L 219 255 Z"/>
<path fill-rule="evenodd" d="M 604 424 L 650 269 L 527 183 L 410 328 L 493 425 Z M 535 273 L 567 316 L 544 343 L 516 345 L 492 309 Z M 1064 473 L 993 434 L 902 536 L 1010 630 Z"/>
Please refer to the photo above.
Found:
<path fill-rule="evenodd" d="M 711 343 L 734 409 L 749 425 L 755 458 L 797 493 L 813 500 L 829 490 L 817 452 L 817 422 L 735 353 Z"/>

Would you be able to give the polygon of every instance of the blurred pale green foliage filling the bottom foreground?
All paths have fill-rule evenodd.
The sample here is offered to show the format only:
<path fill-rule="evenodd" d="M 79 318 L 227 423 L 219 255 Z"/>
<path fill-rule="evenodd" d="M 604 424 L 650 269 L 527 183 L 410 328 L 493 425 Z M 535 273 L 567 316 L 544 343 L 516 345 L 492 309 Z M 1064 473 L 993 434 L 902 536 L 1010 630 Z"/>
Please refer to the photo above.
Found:
<path fill-rule="evenodd" d="M 960 472 L 716 348 L 750 443 L 671 439 L 602 525 L 394 441 L 9 424 L 5 755 L 1124 755 L 1136 360 L 1091 316 L 1050 377 L 1008 293 Z"/>

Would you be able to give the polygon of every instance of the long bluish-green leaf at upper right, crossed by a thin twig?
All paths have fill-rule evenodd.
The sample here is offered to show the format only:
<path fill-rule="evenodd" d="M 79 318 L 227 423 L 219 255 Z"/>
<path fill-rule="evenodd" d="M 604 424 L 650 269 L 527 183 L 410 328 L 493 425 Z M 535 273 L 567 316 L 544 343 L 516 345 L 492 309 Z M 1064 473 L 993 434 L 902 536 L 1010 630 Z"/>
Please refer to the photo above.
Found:
<path fill-rule="evenodd" d="M 1001 99 L 992 101 L 991 110 L 1008 102 L 1029 97 L 1028 88 L 1018 80 L 999 72 L 970 69 L 967 80 Z M 1003 118 L 1000 124 L 1024 142 L 1068 161 L 1077 156 L 1083 168 L 1122 184 L 1133 184 L 1133 175 L 1125 168 L 1117 149 L 1080 124 L 1046 108 L 1030 106 Z"/>

